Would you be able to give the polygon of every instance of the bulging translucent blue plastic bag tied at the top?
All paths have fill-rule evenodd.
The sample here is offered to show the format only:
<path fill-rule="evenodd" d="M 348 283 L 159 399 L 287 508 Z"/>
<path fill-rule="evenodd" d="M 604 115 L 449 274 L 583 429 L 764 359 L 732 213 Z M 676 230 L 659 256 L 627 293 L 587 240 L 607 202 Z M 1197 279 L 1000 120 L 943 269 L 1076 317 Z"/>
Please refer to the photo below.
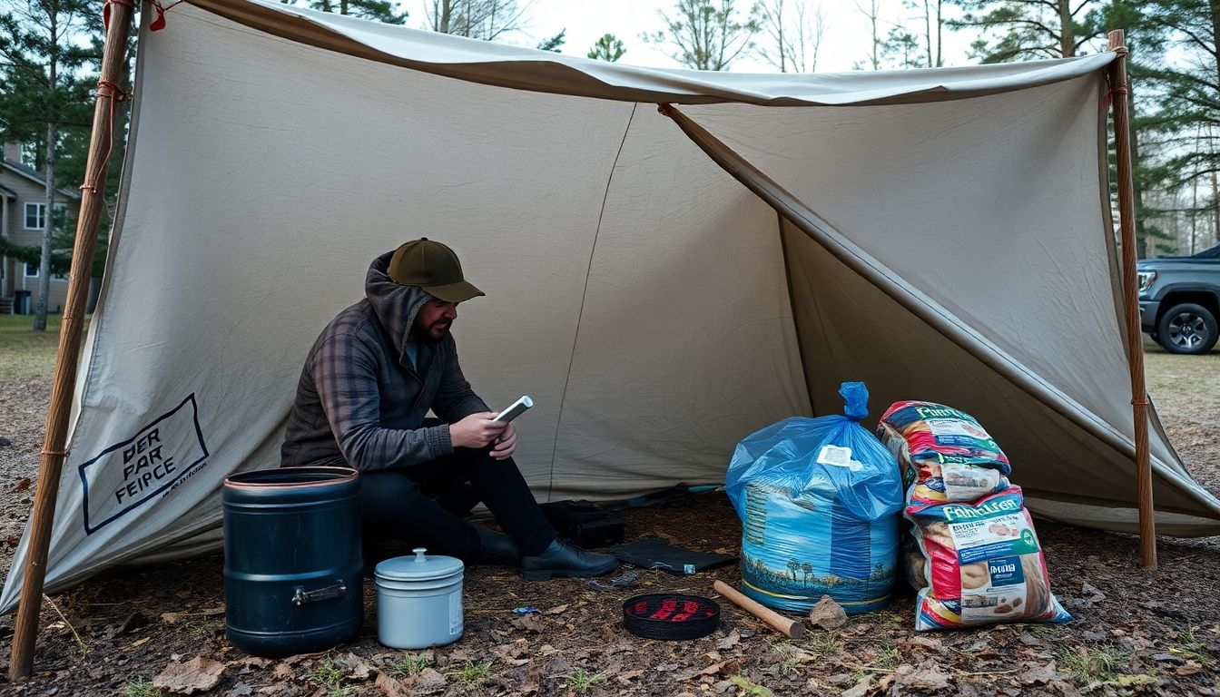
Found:
<path fill-rule="evenodd" d="M 738 443 L 726 488 L 742 519 L 742 592 L 783 610 L 828 594 L 848 614 L 884 607 L 898 560 L 902 477 L 860 426 L 869 391 L 844 382 L 845 416 L 784 419 Z"/>

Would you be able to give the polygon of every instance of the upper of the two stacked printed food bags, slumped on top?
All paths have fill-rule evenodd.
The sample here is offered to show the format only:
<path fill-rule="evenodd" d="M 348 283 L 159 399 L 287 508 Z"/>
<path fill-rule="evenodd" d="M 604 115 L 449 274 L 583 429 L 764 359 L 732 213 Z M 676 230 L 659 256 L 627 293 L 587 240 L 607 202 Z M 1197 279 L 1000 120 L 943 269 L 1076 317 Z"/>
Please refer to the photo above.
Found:
<path fill-rule="evenodd" d="M 965 411 L 897 402 L 882 414 L 877 437 L 898 459 L 908 503 L 969 502 L 1009 486 L 1008 457 Z"/>

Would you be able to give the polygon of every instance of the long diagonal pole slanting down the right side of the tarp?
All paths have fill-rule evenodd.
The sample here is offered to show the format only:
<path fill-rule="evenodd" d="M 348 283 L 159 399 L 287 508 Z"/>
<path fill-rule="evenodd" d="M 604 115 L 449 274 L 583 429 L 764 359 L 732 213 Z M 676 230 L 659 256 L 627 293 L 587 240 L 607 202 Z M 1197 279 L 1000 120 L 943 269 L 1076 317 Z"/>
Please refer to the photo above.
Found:
<path fill-rule="evenodd" d="M 1126 436 L 1115 431 L 1109 424 L 1100 422 L 1091 410 L 1085 409 L 1081 404 L 1063 394 L 1058 388 L 1048 385 L 1046 380 L 1036 374 L 1032 374 L 999 347 L 981 337 L 974 328 L 969 327 L 964 322 L 956 321 L 956 317 L 947 309 L 942 308 L 938 303 L 911 288 L 908 283 L 902 281 L 902 278 L 895 277 L 895 275 L 892 273 L 883 264 L 845 239 L 841 233 L 834 231 L 832 226 L 821 220 L 817 214 L 809 210 L 808 206 L 800 203 L 799 199 L 789 194 L 783 189 L 783 187 L 764 175 L 745 157 L 741 156 L 732 148 L 709 133 L 693 118 L 672 106 L 664 111 L 664 114 L 670 116 L 670 118 L 672 118 L 675 123 L 677 123 L 678 127 L 704 153 L 706 153 L 709 157 L 712 159 L 712 161 L 723 167 L 726 172 L 742 182 L 743 186 L 775 206 L 776 210 L 783 212 L 784 217 L 792 221 L 797 228 L 808 234 L 810 239 L 824 247 L 827 251 L 833 254 L 839 261 L 843 261 L 856 272 L 861 272 L 864 269 L 867 269 L 871 271 L 871 275 L 866 275 L 866 277 L 870 280 L 883 281 L 883 283 L 876 283 L 878 289 L 893 298 L 902 306 L 915 312 L 916 316 L 928 321 L 928 323 L 947 339 L 959 345 L 966 353 L 982 360 L 999 375 L 1013 382 L 1017 388 L 1026 392 L 1031 397 L 1042 400 L 1060 416 L 1081 426 L 1087 432 L 1118 450 L 1121 455 L 1132 459 L 1135 458 L 1135 444 Z M 749 172 L 749 175 L 747 175 L 747 172 Z M 799 204 L 799 210 L 797 204 Z M 958 336 L 958 332 L 949 327 L 955 327 L 958 331 L 966 333 L 976 342 L 976 345 L 970 345 L 970 342 L 963 341 L 963 337 Z M 976 347 L 985 347 L 986 350 L 978 350 Z M 1002 365 L 1006 367 L 1008 371 L 1002 370 Z M 1021 376 L 1024 380 L 1020 380 L 1016 376 Z M 1036 394 L 1036 392 L 1042 392 L 1043 394 L 1039 395 Z M 1068 409 L 1065 405 L 1075 406 L 1076 410 L 1074 411 L 1072 409 Z M 1088 417 L 1082 419 L 1081 414 L 1087 414 Z M 1199 487 L 1197 482 L 1183 481 L 1177 472 L 1166 468 L 1165 464 L 1157 457 L 1153 457 L 1153 469 L 1158 475 L 1160 475 L 1164 482 L 1174 486 L 1187 497 L 1199 500 L 1207 508 L 1211 509 L 1216 520 L 1220 520 L 1220 499 L 1216 499 L 1209 492 Z"/>

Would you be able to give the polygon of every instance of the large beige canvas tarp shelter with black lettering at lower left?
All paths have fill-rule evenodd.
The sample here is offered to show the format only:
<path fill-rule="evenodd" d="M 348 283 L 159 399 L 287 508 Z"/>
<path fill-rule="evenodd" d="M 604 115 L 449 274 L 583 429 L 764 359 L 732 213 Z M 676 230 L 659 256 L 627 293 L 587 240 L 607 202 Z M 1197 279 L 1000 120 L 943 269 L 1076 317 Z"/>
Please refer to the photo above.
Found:
<path fill-rule="evenodd" d="M 420 236 L 487 291 L 462 365 L 493 406 L 534 398 L 540 498 L 722 481 L 743 436 L 863 380 L 874 416 L 975 414 L 1036 513 L 1135 530 L 1113 54 L 758 76 L 253 0 L 167 20 L 139 37 L 50 591 L 215 549 L 222 477 L 278 464 L 309 347 Z M 1154 415 L 1150 442 L 1158 530 L 1220 533 Z"/>

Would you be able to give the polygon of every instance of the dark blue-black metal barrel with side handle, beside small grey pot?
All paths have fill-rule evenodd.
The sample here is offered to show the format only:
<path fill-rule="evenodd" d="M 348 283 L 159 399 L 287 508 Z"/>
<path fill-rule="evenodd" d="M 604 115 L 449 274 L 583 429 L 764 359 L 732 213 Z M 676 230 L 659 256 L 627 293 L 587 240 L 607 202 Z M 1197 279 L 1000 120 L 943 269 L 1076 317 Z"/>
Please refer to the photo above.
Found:
<path fill-rule="evenodd" d="M 292 655 L 360 632 L 359 493 L 359 474 L 348 468 L 224 477 L 224 614 L 233 646 Z"/>

